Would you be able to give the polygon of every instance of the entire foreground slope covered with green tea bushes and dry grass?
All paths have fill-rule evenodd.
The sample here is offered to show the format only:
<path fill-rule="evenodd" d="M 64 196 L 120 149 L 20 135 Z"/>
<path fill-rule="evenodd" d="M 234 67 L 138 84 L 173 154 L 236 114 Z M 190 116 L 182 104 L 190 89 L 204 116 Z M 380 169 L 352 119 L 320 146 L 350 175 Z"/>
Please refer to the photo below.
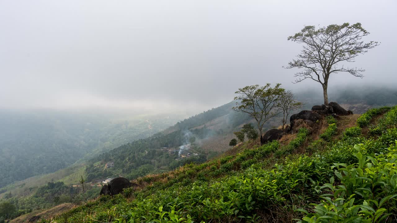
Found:
<path fill-rule="evenodd" d="M 318 133 L 246 142 L 48 222 L 393 222 L 396 127 L 397 106 L 327 118 Z"/>

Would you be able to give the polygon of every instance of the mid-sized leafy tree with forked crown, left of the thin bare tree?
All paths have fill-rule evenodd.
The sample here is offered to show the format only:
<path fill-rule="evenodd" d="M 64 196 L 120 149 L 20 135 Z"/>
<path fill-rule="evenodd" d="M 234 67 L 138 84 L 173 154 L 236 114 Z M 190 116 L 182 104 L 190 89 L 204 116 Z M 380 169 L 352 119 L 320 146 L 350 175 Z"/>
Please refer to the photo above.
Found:
<path fill-rule="evenodd" d="M 274 88 L 270 87 L 270 84 L 265 86 L 251 85 L 239 88 L 235 92 L 238 96 L 234 98 L 236 106 L 232 109 L 236 112 L 245 112 L 256 120 L 261 144 L 263 144 L 262 129 L 264 123 L 282 112 L 278 102 L 284 92 L 285 90 L 280 88 L 280 84 L 276 84 Z"/>

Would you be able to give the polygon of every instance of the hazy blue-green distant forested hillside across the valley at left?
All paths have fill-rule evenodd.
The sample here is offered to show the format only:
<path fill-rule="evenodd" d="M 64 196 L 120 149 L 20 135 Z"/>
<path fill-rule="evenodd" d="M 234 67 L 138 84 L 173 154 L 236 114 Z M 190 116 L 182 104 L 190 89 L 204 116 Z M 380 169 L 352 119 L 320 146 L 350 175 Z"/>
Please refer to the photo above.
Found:
<path fill-rule="evenodd" d="M 2 111 L 0 188 L 146 138 L 173 125 L 179 117 L 137 115 L 115 119 L 108 115 L 67 112 Z"/>

